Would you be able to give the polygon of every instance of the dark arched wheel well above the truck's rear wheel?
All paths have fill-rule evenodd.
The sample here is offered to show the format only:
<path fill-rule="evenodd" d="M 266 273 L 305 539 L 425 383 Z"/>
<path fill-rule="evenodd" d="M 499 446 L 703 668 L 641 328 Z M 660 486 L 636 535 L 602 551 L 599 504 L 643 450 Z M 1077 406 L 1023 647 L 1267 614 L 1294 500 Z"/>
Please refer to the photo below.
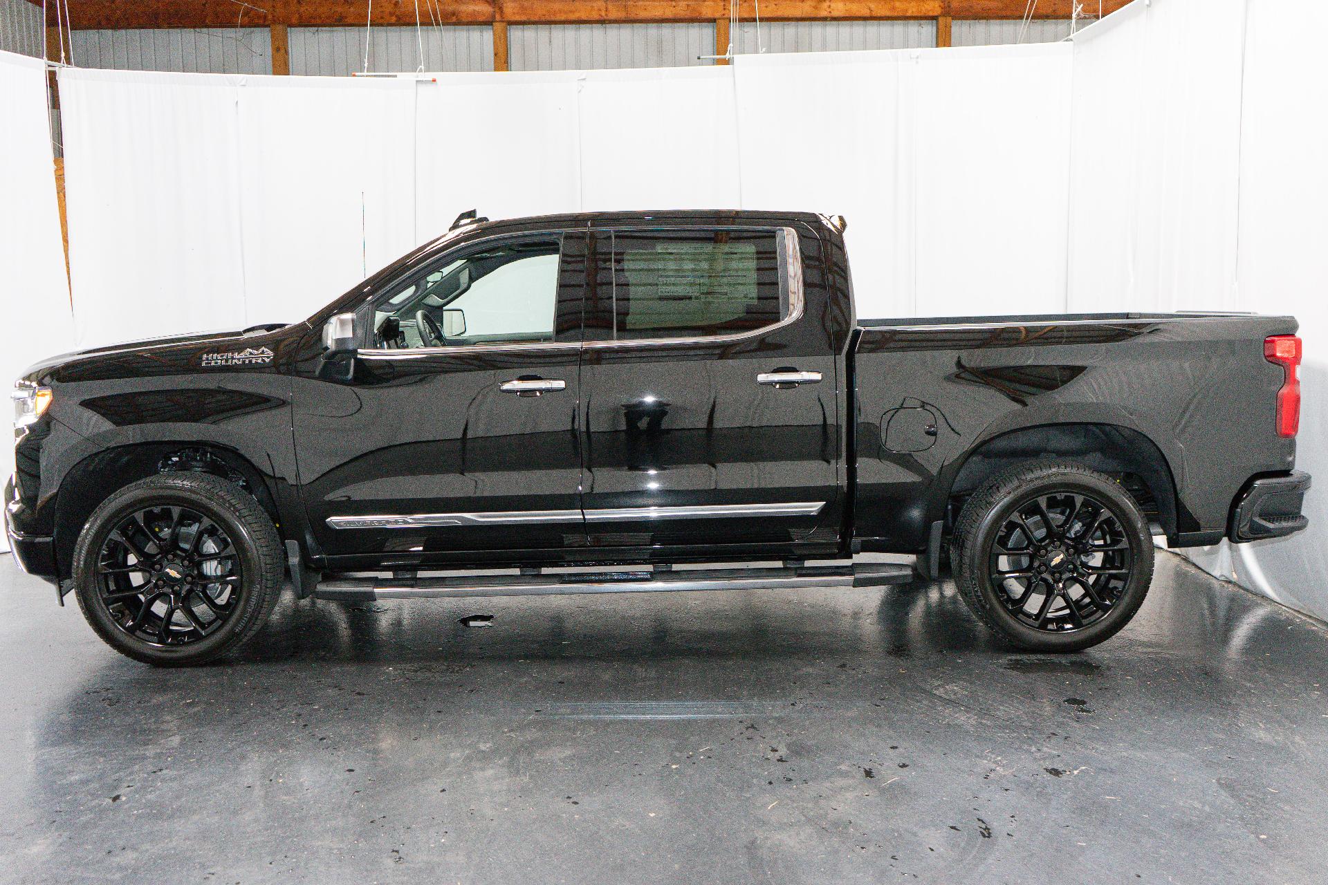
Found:
<path fill-rule="evenodd" d="M 1169 541 L 1175 541 L 1175 480 L 1166 456 L 1151 439 L 1118 425 L 1042 425 L 988 439 L 955 475 L 947 525 L 954 525 L 964 502 L 987 480 L 1019 464 L 1048 458 L 1106 474 L 1134 498 L 1149 521 L 1162 525 Z"/>

